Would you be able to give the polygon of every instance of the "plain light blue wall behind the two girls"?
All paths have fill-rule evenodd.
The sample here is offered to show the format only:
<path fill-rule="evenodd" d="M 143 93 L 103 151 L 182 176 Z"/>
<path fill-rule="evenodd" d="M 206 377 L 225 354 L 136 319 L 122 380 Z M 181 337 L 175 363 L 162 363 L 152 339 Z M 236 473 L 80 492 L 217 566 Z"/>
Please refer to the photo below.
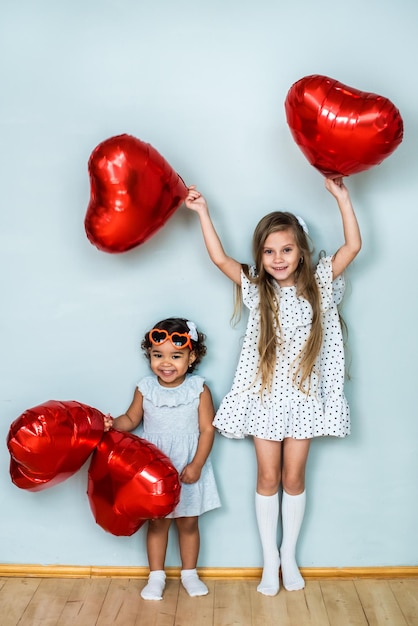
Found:
<path fill-rule="evenodd" d="M 317 250 L 341 242 L 338 211 L 293 142 L 290 86 L 324 74 L 391 99 L 405 136 L 347 180 L 364 247 L 349 270 L 351 437 L 317 440 L 299 545 L 305 567 L 416 565 L 418 5 L 415 0 L 3 0 L 0 7 L 0 428 L 49 399 L 116 415 L 147 373 L 138 344 L 184 315 L 208 335 L 200 372 L 218 403 L 243 323 L 184 207 L 147 243 L 111 255 L 84 233 L 87 161 L 104 139 L 151 143 L 211 205 L 231 255 L 251 261 L 265 213 L 303 215 Z M 217 437 L 223 508 L 202 517 L 199 564 L 261 564 L 251 441 Z M 0 456 L 5 563 L 146 565 L 143 530 L 94 521 L 87 467 L 38 493 Z M 178 564 L 170 543 L 168 565 Z"/>

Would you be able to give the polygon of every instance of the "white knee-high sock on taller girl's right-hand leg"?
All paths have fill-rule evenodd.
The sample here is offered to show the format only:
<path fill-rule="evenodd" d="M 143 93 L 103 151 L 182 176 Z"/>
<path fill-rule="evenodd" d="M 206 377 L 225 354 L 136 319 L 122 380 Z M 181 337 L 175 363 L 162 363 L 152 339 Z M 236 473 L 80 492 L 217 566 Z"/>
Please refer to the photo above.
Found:
<path fill-rule="evenodd" d="M 288 591 L 303 589 L 303 580 L 296 563 L 296 544 L 305 514 L 306 493 L 291 496 L 283 490 L 282 526 L 283 539 L 280 546 L 283 585 Z"/>

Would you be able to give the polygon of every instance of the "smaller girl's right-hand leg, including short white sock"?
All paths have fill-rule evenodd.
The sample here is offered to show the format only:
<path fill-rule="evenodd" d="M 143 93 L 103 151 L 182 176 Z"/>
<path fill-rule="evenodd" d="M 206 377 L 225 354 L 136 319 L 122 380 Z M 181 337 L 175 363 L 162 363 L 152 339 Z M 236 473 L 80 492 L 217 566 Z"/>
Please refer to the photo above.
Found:
<path fill-rule="evenodd" d="M 209 590 L 200 580 L 196 570 L 200 548 L 199 518 L 178 517 L 176 524 L 179 534 L 183 587 L 189 596 L 205 596 Z"/>

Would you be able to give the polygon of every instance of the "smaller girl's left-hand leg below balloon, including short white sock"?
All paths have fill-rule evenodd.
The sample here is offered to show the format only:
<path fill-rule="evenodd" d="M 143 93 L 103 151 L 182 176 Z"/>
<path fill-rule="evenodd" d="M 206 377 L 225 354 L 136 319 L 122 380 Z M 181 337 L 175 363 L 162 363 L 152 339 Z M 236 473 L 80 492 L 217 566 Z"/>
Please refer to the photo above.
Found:
<path fill-rule="evenodd" d="M 148 584 L 141 591 L 144 600 L 162 600 L 165 588 L 164 562 L 171 519 L 150 520 L 147 532 L 147 553 L 150 567 Z"/>

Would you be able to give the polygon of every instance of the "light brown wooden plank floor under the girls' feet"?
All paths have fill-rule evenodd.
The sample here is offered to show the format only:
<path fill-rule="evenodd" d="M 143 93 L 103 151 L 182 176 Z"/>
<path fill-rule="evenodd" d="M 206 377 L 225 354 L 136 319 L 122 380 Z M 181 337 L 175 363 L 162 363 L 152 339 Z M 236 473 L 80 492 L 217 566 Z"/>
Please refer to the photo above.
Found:
<path fill-rule="evenodd" d="M 308 580 L 274 598 L 255 580 L 205 582 L 190 598 L 168 579 L 162 601 L 145 601 L 145 580 L 0 578 L 1 626 L 417 626 L 418 579 Z"/>

